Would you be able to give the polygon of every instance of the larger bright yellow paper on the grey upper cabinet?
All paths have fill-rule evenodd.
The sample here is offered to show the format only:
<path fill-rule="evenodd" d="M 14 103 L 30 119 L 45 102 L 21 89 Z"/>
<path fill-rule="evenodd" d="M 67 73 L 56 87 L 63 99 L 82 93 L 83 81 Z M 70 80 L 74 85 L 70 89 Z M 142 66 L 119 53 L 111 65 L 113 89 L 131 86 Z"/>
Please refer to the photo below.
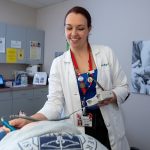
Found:
<path fill-rule="evenodd" d="M 16 63 L 17 62 L 16 48 L 7 48 L 6 49 L 6 62 L 7 63 Z"/>

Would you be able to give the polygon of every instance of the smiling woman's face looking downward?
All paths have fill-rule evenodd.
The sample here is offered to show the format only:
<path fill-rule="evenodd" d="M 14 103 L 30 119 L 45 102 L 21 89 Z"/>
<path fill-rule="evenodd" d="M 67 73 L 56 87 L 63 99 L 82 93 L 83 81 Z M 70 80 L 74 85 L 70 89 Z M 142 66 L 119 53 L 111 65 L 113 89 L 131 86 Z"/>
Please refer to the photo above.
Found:
<path fill-rule="evenodd" d="M 87 19 L 82 14 L 70 13 L 65 22 L 65 35 L 70 47 L 82 48 L 85 46 L 90 29 Z"/>

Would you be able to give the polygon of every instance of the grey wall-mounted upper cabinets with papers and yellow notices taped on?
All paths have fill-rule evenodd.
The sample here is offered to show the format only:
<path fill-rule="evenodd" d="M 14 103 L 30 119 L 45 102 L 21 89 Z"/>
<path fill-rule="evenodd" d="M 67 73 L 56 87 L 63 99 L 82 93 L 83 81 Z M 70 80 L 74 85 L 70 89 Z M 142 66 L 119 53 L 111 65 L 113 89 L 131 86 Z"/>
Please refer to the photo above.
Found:
<path fill-rule="evenodd" d="M 0 23 L 0 38 L 5 38 L 0 63 L 43 64 L 44 31 Z"/>

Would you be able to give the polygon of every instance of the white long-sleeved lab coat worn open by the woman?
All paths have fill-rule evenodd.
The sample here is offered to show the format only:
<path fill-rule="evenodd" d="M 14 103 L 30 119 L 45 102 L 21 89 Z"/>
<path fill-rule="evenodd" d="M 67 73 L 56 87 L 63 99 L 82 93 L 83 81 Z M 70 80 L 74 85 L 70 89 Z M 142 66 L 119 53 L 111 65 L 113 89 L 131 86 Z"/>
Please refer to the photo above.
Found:
<path fill-rule="evenodd" d="M 111 148 L 129 150 L 120 107 L 129 94 L 127 78 L 109 47 L 91 46 L 91 49 L 98 69 L 97 81 L 105 90 L 113 90 L 117 96 L 118 104 L 100 107 L 108 129 Z M 49 119 L 54 119 L 61 117 L 63 108 L 65 115 L 81 108 L 70 51 L 54 59 L 49 76 L 48 100 L 39 112 Z M 76 124 L 75 118 L 74 114 L 70 119 L 74 124 Z M 84 131 L 84 128 L 80 129 Z"/>

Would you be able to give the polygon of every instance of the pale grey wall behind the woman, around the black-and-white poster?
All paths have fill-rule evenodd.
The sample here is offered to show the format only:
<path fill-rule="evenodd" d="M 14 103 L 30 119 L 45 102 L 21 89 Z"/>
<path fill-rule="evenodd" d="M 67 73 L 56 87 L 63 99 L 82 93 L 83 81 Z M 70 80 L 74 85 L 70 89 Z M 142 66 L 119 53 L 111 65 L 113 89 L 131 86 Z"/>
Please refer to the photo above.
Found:
<path fill-rule="evenodd" d="M 149 0 L 68 0 L 38 11 L 37 26 L 46 32 L 44 70 L 49 72 L 54 51 L 66 49 L 63 21 L 68 9 L 86 7 L 93 20 L 92 44 L 113 48 L 130 82 L 133 40 L 150 40 Z M 150 97 L 132 94 L 123 105 L 126 133 L 131 146 L 150 149 Z"/>

